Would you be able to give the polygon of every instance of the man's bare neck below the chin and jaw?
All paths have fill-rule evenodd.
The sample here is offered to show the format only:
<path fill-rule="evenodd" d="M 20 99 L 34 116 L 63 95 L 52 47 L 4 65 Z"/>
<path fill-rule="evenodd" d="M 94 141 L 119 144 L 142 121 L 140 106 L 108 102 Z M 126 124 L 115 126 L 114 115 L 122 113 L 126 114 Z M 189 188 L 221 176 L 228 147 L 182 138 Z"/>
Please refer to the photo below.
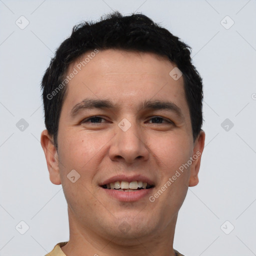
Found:
<path fill-rule="evenodd" d="M 177 215 L 160 233 L 147 237 L 122 240 L 109 234 L 98 234 L 93 228 L 84 228 L 68 209 L 69 241 L 61 247 L 66 256 L 175 256 L 173 237 Z"/>

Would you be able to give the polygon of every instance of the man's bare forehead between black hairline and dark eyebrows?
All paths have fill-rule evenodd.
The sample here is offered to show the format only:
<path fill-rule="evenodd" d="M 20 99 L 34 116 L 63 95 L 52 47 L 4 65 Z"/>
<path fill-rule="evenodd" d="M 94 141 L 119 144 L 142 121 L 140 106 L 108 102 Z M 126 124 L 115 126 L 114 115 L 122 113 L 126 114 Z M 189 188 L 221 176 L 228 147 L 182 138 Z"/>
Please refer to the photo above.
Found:
<path fill-rule="evenodd" d="M 149 52 L 88 51 L 69 65 L 67 74 L 76 74 L 68 82 L 64 105 L 70 110 L 86 97 L 112 98 L 135 109 L 144 100 L 168 99 L 186 112 L 183 77 L 174 80 L 169 75 L 174 67 L 167 57 Z"/>

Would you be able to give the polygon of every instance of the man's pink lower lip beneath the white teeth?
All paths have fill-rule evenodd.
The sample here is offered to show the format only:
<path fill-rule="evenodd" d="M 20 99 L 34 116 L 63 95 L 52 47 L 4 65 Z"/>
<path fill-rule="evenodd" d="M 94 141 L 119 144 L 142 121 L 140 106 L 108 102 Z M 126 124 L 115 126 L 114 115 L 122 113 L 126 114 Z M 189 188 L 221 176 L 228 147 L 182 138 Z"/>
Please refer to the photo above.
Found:
<path fill-rule="evenodd" d="M 142 199 L 145 196 L 148 196 L 148 194 L 151 193 L 152 188 L 147 189 L 140 189 L 137 191 L 118 191 L 116 189 L 107 189 L 103 188 L 104 191 L 111 197 L 114 197 L 118 199 L 119 201 L 128 202 L 128 201 L 137 201 L 139 199 Z"/>

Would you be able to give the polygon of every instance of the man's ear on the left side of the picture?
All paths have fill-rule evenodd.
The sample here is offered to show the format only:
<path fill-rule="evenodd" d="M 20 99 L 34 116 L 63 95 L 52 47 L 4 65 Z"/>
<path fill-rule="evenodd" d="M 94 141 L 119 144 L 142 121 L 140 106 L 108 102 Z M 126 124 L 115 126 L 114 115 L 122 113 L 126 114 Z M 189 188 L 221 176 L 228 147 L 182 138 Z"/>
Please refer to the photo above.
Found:
<path fill-rule="evenodd" d="M 45 154 L 50 181 L 55 185 L 59 185 L 61 184 L 61 180 L 59 175 L 57 149 L 47 130 L 43 130 L 41 133 L 41 146 Z"/>

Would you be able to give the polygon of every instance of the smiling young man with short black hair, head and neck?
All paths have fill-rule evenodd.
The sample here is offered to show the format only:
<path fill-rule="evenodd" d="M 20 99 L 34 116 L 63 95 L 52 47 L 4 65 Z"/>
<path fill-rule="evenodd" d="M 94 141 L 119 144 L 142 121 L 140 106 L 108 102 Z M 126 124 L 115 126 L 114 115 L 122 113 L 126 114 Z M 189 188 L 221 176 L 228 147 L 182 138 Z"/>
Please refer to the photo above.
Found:
<path fill-rule="evenodd" d="M 47 255 L 182 255 L 175 224 L 205 138 L 188 46 L 145 15 L 115 12 L 73 28 L 42 89 L 41 145 L 70 231 Z"/>

